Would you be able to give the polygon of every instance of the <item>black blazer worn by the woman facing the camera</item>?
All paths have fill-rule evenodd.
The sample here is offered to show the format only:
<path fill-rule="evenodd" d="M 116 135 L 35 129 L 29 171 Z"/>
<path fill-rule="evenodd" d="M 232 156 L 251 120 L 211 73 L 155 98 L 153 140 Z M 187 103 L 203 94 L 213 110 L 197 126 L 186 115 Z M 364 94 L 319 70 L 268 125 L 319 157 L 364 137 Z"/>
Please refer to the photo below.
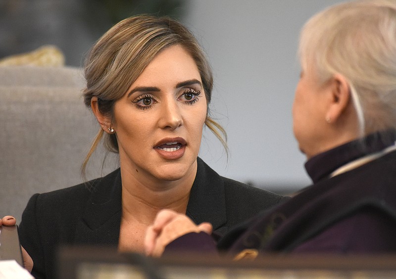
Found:
<path fill-rule="evenodd" d="M 223 234 L 283 196 L 219 176 L 200 158 L 187 215 L 197 224 L 210 222 Z M 69 188 L 33 195 L 19 226 L 21 245 L 34 262 L 33 276 L 53 278 L 60 245 L 118 246 L 121 224 L 120 169 Z"/>

